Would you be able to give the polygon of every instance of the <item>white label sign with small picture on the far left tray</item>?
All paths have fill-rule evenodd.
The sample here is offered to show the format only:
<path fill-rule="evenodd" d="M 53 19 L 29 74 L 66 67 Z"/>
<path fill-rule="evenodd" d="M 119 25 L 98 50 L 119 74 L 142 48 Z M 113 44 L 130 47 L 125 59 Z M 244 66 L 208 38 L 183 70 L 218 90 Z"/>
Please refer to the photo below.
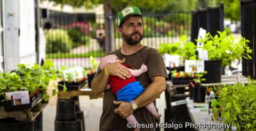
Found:
<path fill-rule="evenodd" d="M 13 101 L 12 101 L 13 106 L 30 103 L 28 91 L 6 92 L 5 95 L 8 96 L 9 101 L 11 100 L 11 97 L 13 98 Z"/>

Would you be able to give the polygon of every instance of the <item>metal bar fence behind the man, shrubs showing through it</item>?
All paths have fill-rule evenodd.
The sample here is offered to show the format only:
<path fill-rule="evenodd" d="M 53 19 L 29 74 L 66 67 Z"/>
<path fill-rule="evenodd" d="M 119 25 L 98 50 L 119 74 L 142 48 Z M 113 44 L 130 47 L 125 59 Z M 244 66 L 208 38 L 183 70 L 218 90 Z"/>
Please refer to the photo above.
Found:
<path fill-rule="evenodd" d="M 190 38 L 192 12 L 142 13 L 143 39 L 145 46 L 158 49 L 161 43 L 179 42 L 180 37 Z M 111 19 L 114 27 L 115 49 L 122 47 L 122 37 L 118 32 L 117 14 Z M 51 29 L 45 29 L 46 58 L 51 58 L 54 67 L 82 66 L 92 67 L 90 56 L 97 61 L 105 55 L 104 29 L 105 15 L 67 14 L 50 11 L 44 23 L 51 23 Z M 100 35 L 98 35 L 98 34 Z"/>

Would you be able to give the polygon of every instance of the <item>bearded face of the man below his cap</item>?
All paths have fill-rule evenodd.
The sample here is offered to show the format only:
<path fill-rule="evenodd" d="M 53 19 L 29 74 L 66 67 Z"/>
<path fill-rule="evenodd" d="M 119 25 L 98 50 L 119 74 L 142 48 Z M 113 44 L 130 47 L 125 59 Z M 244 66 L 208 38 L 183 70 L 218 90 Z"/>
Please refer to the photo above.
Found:
<path fill-rule="evenodd" d="M 121 29 L 127 45 L 137 45 L 143 38 L 143 24 L 140 16 L 126 18 Z"/>

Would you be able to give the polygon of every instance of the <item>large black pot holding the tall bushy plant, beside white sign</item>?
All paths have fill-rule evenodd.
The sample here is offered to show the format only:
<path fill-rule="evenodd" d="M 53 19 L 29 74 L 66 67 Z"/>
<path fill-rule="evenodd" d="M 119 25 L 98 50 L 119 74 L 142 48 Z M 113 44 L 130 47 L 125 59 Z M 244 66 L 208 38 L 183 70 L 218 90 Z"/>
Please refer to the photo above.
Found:
<path fill-rule="evenodd" d="M 203 78 L 206 81 L 202 81 L 202 83 L 221 82 L 221 62 L 222 60 L 204 60 L 204 70 L 207 71 L 207 74 L 204 74 Z"/>

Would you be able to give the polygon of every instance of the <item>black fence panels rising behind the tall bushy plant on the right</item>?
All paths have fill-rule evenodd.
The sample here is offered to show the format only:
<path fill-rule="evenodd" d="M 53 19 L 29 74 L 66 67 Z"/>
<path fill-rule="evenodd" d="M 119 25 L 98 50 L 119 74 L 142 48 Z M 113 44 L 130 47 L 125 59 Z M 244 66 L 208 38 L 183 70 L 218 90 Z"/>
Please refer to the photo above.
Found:
<path fill-rule="evenodd" d="M 217 7 L 208 6 L 206 9 L 198 10 L 192 18 L 191 41 L 196 44 L 199 28 L 210 32 L 212 36 L 218 34 L 217 31 L 224 31 L 224 4 L 220 3 Z"/>

